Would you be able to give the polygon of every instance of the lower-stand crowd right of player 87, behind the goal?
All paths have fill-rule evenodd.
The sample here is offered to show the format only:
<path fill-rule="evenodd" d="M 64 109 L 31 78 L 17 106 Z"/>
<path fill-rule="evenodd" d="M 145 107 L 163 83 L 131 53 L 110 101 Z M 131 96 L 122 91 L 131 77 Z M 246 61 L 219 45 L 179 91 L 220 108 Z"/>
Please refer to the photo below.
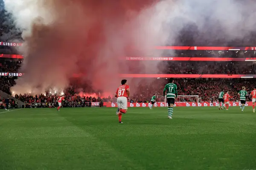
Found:
<path fill-rule="evenodd" d="M 148 81 L 148 80 L 147 80 Z M 158 101 L 163 101 L 163 88 L 167 83 L 166 79 L 155 79 L 151 83 L 142 82 L 137 86 L 136 92 L 132 93 L 131 99 L 134 102 L 148 102 L 153 94 L 156 94 Z M 247 101 L 251 101 L 250 92 L 256 86 L 256 82 L 250 79 L 177 79 L 178 95 L 198 95 L 199 102 L 217 102 L 221 90 L 224 93 L 229 91 L 232 101 L 239 101 L 238 92 L 245 86 L 248 94 Z M 196 101 L 196 98 L 180 97 L 180 101 Z"/>

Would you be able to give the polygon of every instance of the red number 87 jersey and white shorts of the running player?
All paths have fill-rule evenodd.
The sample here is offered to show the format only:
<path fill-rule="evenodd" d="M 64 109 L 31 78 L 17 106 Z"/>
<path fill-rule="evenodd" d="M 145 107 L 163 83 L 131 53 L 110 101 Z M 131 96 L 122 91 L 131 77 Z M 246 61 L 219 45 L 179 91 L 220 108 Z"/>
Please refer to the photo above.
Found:
<path fill-rule="evenodd" d="M 117 95 L 117 105 L 119 109 L 127 109 L 127 90 L 129 85 L 120 85 L 116 90 Z"/>

